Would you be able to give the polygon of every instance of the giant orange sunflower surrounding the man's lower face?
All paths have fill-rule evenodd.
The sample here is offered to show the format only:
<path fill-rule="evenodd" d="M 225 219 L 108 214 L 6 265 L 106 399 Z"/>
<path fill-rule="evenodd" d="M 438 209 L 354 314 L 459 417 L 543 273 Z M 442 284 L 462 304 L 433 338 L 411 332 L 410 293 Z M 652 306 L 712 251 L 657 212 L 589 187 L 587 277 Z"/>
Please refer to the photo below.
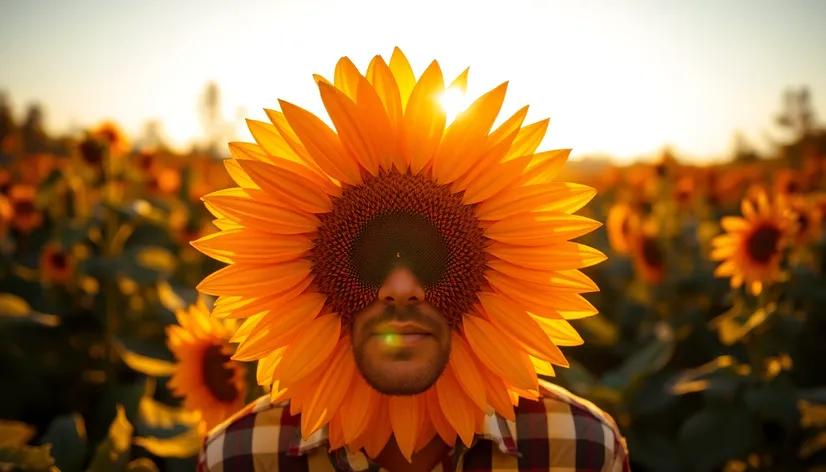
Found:
<path fill-rule="evenodd" d="M 230 265 L 198 288 L 219 297 L 214 316 L 247 318 L 233 359 L 259 361 L 305 438 L 329 424 L 331 449 L 371 457 L 391 434 L 408 458 L 437 434 L 470 444 L 486 413 L 513 419 L 537 373 L 568 365 L 558 346 L 582 343 L 567 320 L 596 313 L 580 293 L 598 289 L 578 269 L 605 256 L 570 240 L 599 226 L 573 214 L 595 191 L 552 181 L 569 151 L 536 152 L 548 120 L 523 126 L 527 107 L 491 130 L 507 83 L 448 124 L 436 61 L 416 80 L 395 49 L 364 75 L 345 57 L 332 83 L 315 77 L 335 130 L 286 101 L 248 121 L 257 144 L 231 143 L 225 162 L 239 187 L 203 199 L 222 231 L 193 243 Z M 401 253 L 452 352 L 428 391 L 386 396 L 360 375 L 349 326 Z"/>

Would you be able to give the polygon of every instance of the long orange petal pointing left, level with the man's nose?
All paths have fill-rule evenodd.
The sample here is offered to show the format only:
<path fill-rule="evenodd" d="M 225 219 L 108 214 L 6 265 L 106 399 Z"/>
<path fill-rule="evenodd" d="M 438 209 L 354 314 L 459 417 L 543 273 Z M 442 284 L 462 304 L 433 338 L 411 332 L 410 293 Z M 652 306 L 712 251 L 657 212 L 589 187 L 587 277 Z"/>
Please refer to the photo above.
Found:
<path fill-rule="evenodd" d="M 305 259 L 272 265 L 233 264 L 208 275 L 197 289 L 215 296 L 281 293 L 309 276 L 310 268 L 310 261 Z"/>

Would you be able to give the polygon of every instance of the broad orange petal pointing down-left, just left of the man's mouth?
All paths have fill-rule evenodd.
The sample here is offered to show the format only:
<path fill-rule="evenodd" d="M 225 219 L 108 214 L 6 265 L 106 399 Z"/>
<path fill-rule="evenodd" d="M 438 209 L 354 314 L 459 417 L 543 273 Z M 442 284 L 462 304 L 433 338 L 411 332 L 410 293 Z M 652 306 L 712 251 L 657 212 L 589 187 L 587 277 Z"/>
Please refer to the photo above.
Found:
<path fill-rule="evenodd" d="M 289 387 L 327 361 L 340 335 L 340 316 L 331 314 L 314 319 L 284 351 L 275 370 L 281 386 Z"/>

